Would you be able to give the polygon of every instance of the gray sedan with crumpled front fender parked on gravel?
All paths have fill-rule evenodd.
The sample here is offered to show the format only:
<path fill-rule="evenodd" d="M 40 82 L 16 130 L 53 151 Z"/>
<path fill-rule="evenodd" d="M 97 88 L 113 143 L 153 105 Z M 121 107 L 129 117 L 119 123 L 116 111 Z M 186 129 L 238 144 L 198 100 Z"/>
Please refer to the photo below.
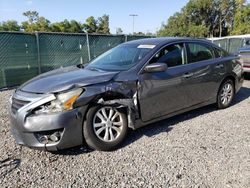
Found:
<path fill-rule="evenodd" d="M 86 66 L 47 72 L 20 86 L 10 118 L 16 142 L 49 151 L 83 143 L 113 150 L 129 128 L 215 103 L 230 106 L 243 69 L 206 41 L 152 38 L 121 44 Z"/>

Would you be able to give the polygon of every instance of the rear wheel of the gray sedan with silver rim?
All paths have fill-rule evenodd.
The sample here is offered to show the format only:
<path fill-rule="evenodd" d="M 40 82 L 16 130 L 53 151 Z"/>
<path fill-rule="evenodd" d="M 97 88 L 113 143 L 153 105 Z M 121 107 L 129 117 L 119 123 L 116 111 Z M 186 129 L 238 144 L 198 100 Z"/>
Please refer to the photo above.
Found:
<path fill-rule="evenodd" d="M 235 94 L 234 83 L 231 79 L 225 80 L 217 94 L 217 107 L 219 109 L 227 108 L 231 105 Z"/>

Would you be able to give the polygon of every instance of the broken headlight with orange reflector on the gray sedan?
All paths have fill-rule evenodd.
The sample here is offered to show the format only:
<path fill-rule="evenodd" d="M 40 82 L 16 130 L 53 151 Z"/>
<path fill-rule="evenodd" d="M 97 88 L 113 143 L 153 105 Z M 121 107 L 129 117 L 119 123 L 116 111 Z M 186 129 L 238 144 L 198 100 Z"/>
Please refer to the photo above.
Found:
<path fill-rule="evenodd" d="M 56 99 L 40 106 L 35 110 L 35 114 L 43 114 L 43 113 L 55 113 L 55 112 L 63 112 L 66 110 L 73 109 L 73 104 L 77 100 L 77 98 L 81 95 L 83 89 L 78 88 L 66 93 L 60 93 L 56 95 Z"/>

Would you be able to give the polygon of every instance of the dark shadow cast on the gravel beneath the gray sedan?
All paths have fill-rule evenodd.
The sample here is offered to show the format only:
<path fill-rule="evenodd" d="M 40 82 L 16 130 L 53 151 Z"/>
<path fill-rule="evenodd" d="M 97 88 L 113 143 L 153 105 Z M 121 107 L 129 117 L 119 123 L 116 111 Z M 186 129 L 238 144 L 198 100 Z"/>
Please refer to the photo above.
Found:
<path fill-rule="evenodd" d="M 248 97 L 250 97 L 250 88 L 242 87 L 239 93 L 236 95 L 236 98 L 233 102 L 233 106 L 237 105 L 238 103 L 246 100 Z M 210 112 L 213 112 L 217 110 L 216 105 L 209 105 L 205 106 L 196 110 L 192 110 L 190 112 L 186 112 L 181 115 L 177 115 L 171 118 L 168 118 L 163 121 L 159 121 L 157 123 L 153 123 L 150 125 L 147 125 L 146 127 L 137 129 L 135 131 L 129 131 L 127 138 L 124 142 L 124 144 L 121 146 L 126 147 L 136 140 L 140 139 L 143 136 L 152 137 L 154 135 L 158 135 L 163 132 L 169 132 L 172 130 L 173 126 L 175 126 L 178 123 L 181 123 L 183 121 L 187 121 L 196 117 L 199 117 L 203 114 L 207 114 Z M 59 155 L 78 155 L 83 153 L 91 152 L 92 150 L 88 149 L 86 146 L 82 147 L 76 147 L 72 149 L 62 150 L 59 152 L 56 152 L 55 154 Z"/>

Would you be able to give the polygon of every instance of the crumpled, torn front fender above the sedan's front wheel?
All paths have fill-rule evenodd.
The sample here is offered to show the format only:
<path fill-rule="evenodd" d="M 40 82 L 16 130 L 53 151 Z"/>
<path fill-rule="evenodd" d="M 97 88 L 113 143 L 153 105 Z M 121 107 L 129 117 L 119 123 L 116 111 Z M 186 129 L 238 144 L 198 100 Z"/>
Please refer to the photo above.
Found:
<path fill-rule="evenodd" d="M 87 104 L 124 108 L 127 112 L 128 127 L 136 129 L 136 120 L 140 118 L 136 81 L 88 86 L 77 100 L 76 106 Z"/>

